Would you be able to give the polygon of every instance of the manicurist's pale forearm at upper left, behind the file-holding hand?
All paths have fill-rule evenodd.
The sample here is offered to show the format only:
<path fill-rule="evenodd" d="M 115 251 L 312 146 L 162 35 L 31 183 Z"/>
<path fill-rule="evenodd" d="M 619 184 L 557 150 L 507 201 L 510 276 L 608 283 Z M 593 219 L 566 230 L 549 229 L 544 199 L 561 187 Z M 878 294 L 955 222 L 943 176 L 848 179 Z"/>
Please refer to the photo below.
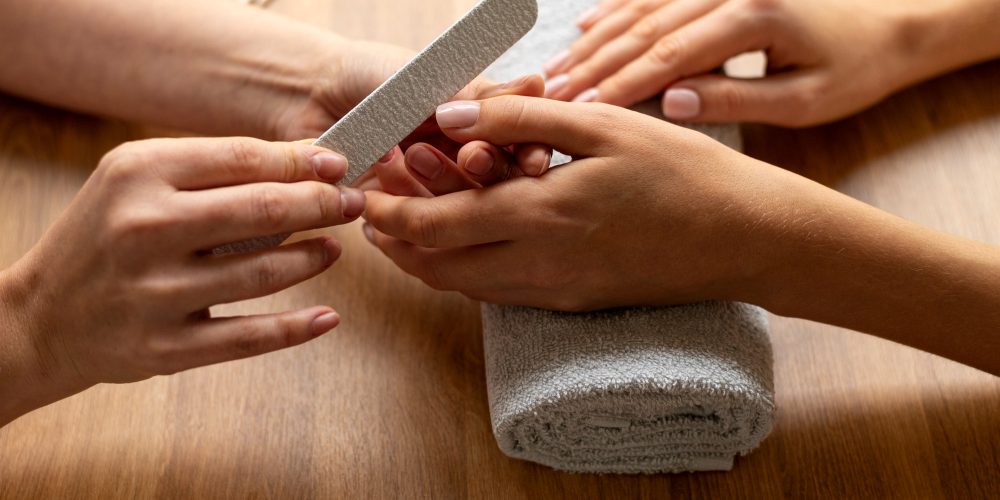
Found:
<path fill-rule="evenodd" d="M 0 90 L 203 133 L 273 137 L 309 97 L 330 33 L 202 0 L 0 2 Z M 328 68 L 323 68 L 328 69 Z"/>

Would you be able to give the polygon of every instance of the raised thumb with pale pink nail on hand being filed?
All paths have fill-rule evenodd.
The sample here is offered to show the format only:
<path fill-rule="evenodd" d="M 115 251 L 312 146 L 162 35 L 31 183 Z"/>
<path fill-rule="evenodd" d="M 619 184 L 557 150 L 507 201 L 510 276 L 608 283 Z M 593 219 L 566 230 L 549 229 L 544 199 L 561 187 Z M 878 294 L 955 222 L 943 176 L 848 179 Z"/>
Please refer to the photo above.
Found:
<path fill-rule="evenodd" d="M 612 142 L 608 130 L 627 120 L 627 113 L 607 104 L 503 96 L 442 104 L 436 118 L 445 135 L 461 143 L 537 143 L 569 155 L 599 156 Z"/>

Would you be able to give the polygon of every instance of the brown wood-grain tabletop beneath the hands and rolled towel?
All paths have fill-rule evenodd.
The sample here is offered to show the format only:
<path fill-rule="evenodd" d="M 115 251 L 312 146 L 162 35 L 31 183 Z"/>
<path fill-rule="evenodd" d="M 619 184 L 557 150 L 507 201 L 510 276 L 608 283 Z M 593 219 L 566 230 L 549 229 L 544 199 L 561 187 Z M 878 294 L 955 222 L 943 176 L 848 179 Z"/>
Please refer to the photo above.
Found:
<path fill-rule="evenodd" d="M 472 3 L 279 0 L 273 8 L 416 48 Z M 1000 63 L 990 63 L 833 125 L 748 127 L 748 151 L 904 217 L 1000 244 L 998 89 Z M 0 265 L 42 236 L 104 152 L 148 134 L 0 97 Z M 357 225 L 332 233 L 345 247 L 332 270 L 220 312 L 328 303 L 344 317 L 335 333 L 258 359 L 96 387 L 23 417 L 0 430 L 0 497 L 1000 495 L 1000 379 L 781 318 L 773 322 L 777 426 L 731 473 L 601 477 L 511 460 L 490 430 L 477 305 L 404 276 Z"/>

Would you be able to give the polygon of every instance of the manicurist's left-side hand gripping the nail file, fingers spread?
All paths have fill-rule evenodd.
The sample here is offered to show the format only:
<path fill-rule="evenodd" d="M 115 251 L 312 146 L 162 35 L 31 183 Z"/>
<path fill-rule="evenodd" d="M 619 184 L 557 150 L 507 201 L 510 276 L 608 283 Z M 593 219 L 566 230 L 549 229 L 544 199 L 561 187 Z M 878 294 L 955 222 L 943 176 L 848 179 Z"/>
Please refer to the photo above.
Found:
<path fill-rule="evenodd" d="M 101 382 L 245 358 L 337 326 L 326 306 L 212 318 L 322 272 L 330 237 L 238 255 L 244 239 L 343 224 L 364 194 L 346 160 L 256 139 L 167 139 L 109 153 L 38 245 L 0 274 L 0 424 Z"/>

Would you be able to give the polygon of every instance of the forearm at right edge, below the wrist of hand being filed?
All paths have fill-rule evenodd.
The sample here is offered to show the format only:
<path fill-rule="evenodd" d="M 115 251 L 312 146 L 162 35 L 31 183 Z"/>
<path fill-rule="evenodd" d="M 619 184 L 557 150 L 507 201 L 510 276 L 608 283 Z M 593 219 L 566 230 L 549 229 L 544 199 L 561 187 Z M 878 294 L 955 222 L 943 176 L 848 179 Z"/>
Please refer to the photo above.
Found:
<path fill-rule="evenodd" d="M 819 189 L 789 196 L 759 303 L 1000 374 L 1000 249 Z"/>

